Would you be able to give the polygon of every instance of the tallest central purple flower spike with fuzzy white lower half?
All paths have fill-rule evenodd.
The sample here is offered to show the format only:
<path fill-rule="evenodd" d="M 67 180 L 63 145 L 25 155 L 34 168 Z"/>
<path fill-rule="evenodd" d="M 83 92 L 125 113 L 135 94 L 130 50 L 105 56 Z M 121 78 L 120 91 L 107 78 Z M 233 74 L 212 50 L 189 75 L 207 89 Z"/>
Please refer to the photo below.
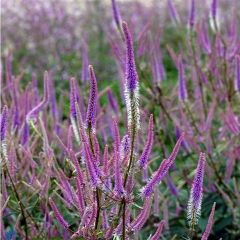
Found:
<path fill-rule="evenodd" d="M 126 22 L 122 23 L 126 43 L 125 100 L 130 133 L 140 127 L 138 74 L 135 65 L 133 41 Z"/>

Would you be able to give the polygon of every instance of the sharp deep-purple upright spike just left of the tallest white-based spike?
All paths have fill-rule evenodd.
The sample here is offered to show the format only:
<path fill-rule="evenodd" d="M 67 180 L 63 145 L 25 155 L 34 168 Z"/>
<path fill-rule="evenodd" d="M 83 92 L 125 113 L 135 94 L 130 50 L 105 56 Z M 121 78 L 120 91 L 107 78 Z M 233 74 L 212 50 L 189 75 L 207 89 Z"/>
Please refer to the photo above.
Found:
<path fill-rule="evenodd" d="M 97 108 L 97 98 L 98 98 L 98 88 L 97 88 L 97 79 L 94 73 L 92 65 L 89 65 L 89 75 L 90 75 L 90 93 L 86 117 L 86 127 L 95 131 L 96 125 L 96 108 Z"/>

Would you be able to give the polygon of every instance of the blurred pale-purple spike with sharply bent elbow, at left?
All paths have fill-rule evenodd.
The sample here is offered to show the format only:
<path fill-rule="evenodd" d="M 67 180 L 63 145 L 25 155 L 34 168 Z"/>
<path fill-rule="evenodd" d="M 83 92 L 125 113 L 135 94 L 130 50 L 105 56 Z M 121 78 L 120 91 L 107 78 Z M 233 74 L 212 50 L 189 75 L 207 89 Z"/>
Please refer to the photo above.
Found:
<path fill-rule="evenodd" d="M 34 107 L 26 116 L 26 120 L 29 123 L 31 120 L 35 120 L 39 112 L 41 112 L 49 102 L 49 79 L 48 72 L 44 72 L 44 96 L 43 100 Z"/>

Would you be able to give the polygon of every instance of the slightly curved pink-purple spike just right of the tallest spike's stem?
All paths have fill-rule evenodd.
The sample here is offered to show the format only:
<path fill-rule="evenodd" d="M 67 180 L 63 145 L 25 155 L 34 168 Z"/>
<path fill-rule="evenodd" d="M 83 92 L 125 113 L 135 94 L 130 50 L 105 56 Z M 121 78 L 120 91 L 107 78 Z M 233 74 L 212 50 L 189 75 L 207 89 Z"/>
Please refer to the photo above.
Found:
<path fill-rule="evenodd" d="M 153 145 L 153 115 L 151 114 L 148 124 L 147 142 L 144 146 L 143 153 L 139 159 L 140 168 L 146 168 L 149 156 L 151 154 L 152 145 Z"/>

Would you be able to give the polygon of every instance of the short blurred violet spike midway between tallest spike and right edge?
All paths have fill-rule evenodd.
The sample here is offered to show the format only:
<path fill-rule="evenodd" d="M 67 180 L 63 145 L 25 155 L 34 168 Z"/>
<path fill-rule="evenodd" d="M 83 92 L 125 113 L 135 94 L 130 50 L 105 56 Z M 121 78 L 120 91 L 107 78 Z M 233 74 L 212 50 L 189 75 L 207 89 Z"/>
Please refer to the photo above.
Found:
<path fill-rule="evenodd" d="M 184 67 L 183 67 L 181 56 L 179 56 L 179 59 L 178 59 L 178 99 L 180 101 L 187 100 L 187 87 L 186 87 Z"/>

